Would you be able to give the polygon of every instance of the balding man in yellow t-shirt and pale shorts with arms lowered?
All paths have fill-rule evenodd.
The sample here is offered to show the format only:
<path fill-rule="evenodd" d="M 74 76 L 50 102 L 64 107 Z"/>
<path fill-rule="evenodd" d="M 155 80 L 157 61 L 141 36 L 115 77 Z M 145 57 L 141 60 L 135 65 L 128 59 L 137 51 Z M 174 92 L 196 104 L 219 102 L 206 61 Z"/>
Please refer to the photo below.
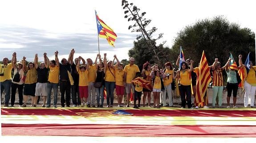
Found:
<path fill-rule="evenodd" d="M 124 75 L 124 81 L 125 81 L 125 88 L 126 88 L 126 93 L 127 93 L 127 105 L 126 107 L 129 107 L 130 104 L 130 93 L 132 90 L 133 97 L 134 97 L 134 85 L 131 83 L 131 80 L 135 77 L 135 74 L 139 71 L 139 68 L 137 65 L 134 64 L 135 59 L 131 57 L 129 59 L 129 65 L 126 65 L 124 68 L 125 75 Z"/>

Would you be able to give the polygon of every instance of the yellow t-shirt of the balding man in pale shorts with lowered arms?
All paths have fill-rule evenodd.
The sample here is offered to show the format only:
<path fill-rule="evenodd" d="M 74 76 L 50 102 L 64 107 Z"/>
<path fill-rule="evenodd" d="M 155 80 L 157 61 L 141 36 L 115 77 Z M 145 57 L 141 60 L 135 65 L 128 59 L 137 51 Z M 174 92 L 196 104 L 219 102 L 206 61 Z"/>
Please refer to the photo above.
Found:
<path fill-rule="evenodd" d="M 124 68 L 126 72 L 126 83 L 131 83 L 131 80 L 135 77 L 137 72 L 140 72 L 137 65 L 126 65 Z"/>

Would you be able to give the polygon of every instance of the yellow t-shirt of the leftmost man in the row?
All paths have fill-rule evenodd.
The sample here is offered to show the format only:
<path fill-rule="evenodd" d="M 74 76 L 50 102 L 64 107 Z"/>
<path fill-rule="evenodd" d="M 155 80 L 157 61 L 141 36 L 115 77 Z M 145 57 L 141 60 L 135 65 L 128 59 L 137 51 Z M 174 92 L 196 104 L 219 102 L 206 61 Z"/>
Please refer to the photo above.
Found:
<path fill-rule="evenodd" d="M 0 72 L 4 73 L 4 76 L 0 76 L 0 82 L 12 79 L 12 63 L 7 65 L 0 64 Z"/>

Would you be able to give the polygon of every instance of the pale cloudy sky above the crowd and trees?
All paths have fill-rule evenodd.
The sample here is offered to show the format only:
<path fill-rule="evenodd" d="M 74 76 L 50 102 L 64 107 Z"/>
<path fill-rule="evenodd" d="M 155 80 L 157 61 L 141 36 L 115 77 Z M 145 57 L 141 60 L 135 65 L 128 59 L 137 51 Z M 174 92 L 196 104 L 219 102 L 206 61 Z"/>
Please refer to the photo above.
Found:
<path fill-rule="evenodd" d="M 109 59 L 117 54 L 127 59 L 128 50 L 136 40 L 124 18 L 122 0 L 1 0 L 0 2 L 0 58 L 17 59 L 23 56 L 33 61 L 42 60 L 43 53 L 53 58 L 55 50 L 60 58 L 67 58 L 72 47 L 77 56 L 95 59 L 98 53 L 98 33 L 94 10 L 118 35 L 115 48 L 100 38 L 101 54 Z M 156 34 L 164 33 L 165 46 L 171 47 L 177 33 L 197 20 L 223 15 L 230 22 L 256 30 L 254 0 L 128 0 L 134 3 L 149 27 L 157 27 Z"/>

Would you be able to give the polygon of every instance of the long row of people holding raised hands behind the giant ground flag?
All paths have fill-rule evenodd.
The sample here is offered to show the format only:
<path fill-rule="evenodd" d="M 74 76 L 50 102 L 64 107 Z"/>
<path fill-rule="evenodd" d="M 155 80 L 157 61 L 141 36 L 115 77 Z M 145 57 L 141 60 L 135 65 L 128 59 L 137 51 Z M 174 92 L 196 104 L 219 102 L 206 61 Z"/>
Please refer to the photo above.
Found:
<path fill-rule="evenodd" d="M 13 107 L 15 104 L 16 90 L 19 94 L 19 106 L 26 107 L 28 96 L 31 97 L 31 107 L 37 107 L 38 97 L 43 98 L 42 107 L 51 107 L 51 93 L 53 89 L 53 107 L 57 108 L 58 86 L 61 92 L 61 107 L 70 107 L 72 97 L 73 107 L 97 107 L 102 108 L 104 103 L 104 89 L 106 89 L 106 107 L 112 108 L 114 104 L 114 89 L 116 91 L 118 107 L 123 107 L 123 96 L 127 93 L 126 107 L 130 106 L 130 96 L 134 99 L 134 108 L 141 107 L 141 97 L 143 107 L 151 107 L 151 92 L 153 92 L 153 108 L 173 107 L 172 89 L 174 81 L 178 79 L 179 94 L 181 97 L 181 108 L 192 107 L 191 96 L 195 97 L 196 76 L 198 67 L 194 68 L 194 61 L 187 59 L 181 63 L 180 70 L 174 71 L 171 62 L 164 64 L 161 68 L 158 65 L 151 66 L 149 62 L 143 64 L 142 71 L 134 64 L 135 59 L 129 58 L 129 64 L 124 66 L 119 62 L 116 55 L 113 61 L 107 61 L 106 54 L 102 61 L 101 55 L 97 54 L 94 64 L 92 59 L 85 59 L 79 56 L 74 58 L 75 50 L 72 49 L 68 60 L 58 59 L 58 51 L 54 53 L 55 59 L 49 60 L 47 53 L 43 54 L 44 62 L 38 64 L 38 55 L 35 54 L 34 62 L 26 65 L 26 57 L 17 62 L 16 53 L 12 54 L 11 63 L 8 58 L 3 58 L 3 64 L 0 64 L 0 90 L 1 97 L 4 91 L 4 106 Z M 244 68 L 242 55 L 239 55 L 239 66 L 237 69 Z M 99 61 L 98 61 L 99 60 Z M 209 66 L 213 75 L 213 97 L 212 106 L 215 107 L 216 97 L 218 96 L 218 106 L 222 107 L 223 96 L 223 71 L 228 75 L 227 80 L 227 108 L 230 106 L 230 97 L 233 93 L 233 108 L 236 106 L 236 95 L 239 80 L 237 79 L 237 69 L 230 68 L 230 61 L 221 67 L 220 62 L 215 58 L 215 62 Z M 114 65 L 114 62 L 116 64 Z M 82 62 L 82 64 L 81 64 Z M 179 57 L 176 65 L 179 66 Z M 12 69 L 14 70 L 12 76 Z M 144 80 L 146 85 L 152 88 L 145 88 L 138 80 Z M 192 88 L 191 88 L 192 87 Z M 256 66 L 252 66 L 246 72 L 244 80 L 244 107 L 248 107 L 250 97 L 250 106 L 254 107 L 254 98 L 256 91 Z M 132 93 L 132 94 L 130 94 Z M 146 97 L 148 104 L 146 105 Z M 206 96 L 204 96 L 206 98 Z M 2 99 L 2 98 L 1 98 Z M 9 100 L 11 104 L 9 105 Z M 167 104 L 168 99 L 168 104 Z M 137 103 L 138 100 L 138 104 Z M 206 99 L 205 99 L 206 100 Z M 195 108 L 199 108 L 199 103 L 195 103 Z M 203 103 L 203 108 L 208 108 Z"/>

